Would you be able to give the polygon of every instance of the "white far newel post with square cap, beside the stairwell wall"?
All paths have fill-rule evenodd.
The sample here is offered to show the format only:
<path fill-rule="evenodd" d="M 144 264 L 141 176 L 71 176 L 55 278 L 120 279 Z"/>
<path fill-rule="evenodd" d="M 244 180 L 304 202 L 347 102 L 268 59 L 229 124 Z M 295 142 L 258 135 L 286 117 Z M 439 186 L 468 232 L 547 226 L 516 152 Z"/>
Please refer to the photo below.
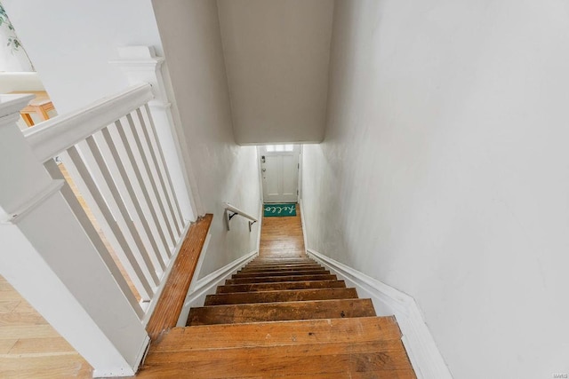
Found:
<path fill-rule="evenodd" d="M 150 83 L 155 99 L 148 102 L 150 112 L 156 126 L 156 133 L 162 145 L 164 160 L 172 178 L 172 186 L 180 203 L 182 217 L 185 220 L 195 221 L 203 211 L 200 209 L 201 201 L 197 194 L 195 179 L 190 168 L 185 164 L 188 161 L 187 152 L 180 130 L 176 130 L 172 104 L 164 86 L 164 77 L 161 72 L 164 58 L 156 57 L 155 51 L 149 46 L 124 46 L 118 48 L 119 59 L 110 63 L 121 67 L 129 83 Z M 186 157 L 186 159 L 185 159 Z"/>

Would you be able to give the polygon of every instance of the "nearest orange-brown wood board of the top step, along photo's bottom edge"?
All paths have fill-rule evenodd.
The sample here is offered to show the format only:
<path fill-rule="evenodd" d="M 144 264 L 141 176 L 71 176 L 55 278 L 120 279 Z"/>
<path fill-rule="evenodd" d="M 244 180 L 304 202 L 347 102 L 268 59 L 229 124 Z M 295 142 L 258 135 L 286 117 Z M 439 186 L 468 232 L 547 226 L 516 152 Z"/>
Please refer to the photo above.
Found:
<path fill-rule="evenodd" d="M 164 361 L 164 359 L 169 359 Z M 156 367 L 154 366 L 156 365 Z M 168 374 L 192 375 L 199 378 L 228 378 L 260 375 L 323 375 L 341 372 L 383 372 L 384 377 L 409 373 L 409 360 L 400 340 L 365 343 L 319 343 L 308 348 L 271 346 L 209 351 L 150 353 L 140 372 L 141 377 L 153 368 Z M 172 371 L 168 371 L 172 370 Z M 395 375 L 393 375 L 395 372 Z M 388 376 L 389 375 L 389 376 Z M 147 376 L 151 377 L 151 376 Z M 368 376 L 369 377 L 369 376 Z M 399 376 L 401 377 L 401 376 Z"/>

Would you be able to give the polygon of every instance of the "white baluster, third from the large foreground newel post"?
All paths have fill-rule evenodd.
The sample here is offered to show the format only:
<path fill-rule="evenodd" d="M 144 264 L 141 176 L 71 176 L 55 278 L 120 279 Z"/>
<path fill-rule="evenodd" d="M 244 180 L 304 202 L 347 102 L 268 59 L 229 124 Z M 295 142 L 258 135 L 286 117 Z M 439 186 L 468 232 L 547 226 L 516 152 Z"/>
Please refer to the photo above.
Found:
<path fill-rule="evenodd" d="M 103 156 L 100 153 L 99 146 L 97 146 L 97 143 L 95 142 L 95 139 L 92 136 L 87 137 L 85 141 L 87 143 L 87 146 L 89 146 L 89 149 L 91 151 L 93 158 L 95 159 L 95 162 L 97 162 L 97 167 L 99 168 L 100 173 L 102 174 L 102 177 L 108 186 L 109 193 L 112 195 L 112 198 L 116 202 L 120 216 L 123 218 L 124 225 L 126 225 L 127 230 L 129 231 L 129 233 L 131 233 L 132 239 L 134 240 L 134 243 L 138 248 L 138 253 L 142 258 L 144 265 L 146 266 L 145 268 L 148 270 L 148 273 L 150 274 L 152 280 L 154 280 L 154 283 L 158 285 L 158 283 L 160 283 L 160 280 L 158 279 L 158 275 L 156 274 L 155 264 L 153 264 L 152 260 L 150 259 L 148 250 L 146 249 L 144 243 L 142 242 L 142 239 L 140 238 L 140 233 L 136 229 L 136 225 L 134 225 L 131 215 L 128 213 L 128 209 L 126 209 L 123 197 L 121 197 L 120 195 L 120 192 L 115 183 L 115 179 L 110 175 L 107 162 L 105 162 L 105 160 L 103 159 Z M 165 268 L 164 263 L 158 260 L 158 265 L 162 268 L 162 271 L 164 271 Z M 160 274 L 162 274 L 162 272 L 160 272 Z"/>

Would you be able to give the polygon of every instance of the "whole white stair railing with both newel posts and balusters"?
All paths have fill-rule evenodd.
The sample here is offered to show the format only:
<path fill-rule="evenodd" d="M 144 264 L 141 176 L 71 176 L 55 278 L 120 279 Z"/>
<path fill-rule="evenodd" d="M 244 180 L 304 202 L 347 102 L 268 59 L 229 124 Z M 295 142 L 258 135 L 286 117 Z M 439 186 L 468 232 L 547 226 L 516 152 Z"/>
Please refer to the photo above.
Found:
<path fill-rule="evenodd" d="M 122 59 L 132 87 L 23 133 L 32 97 L 0 95 L 0 274 L 105 377 L 136 373 L 195 215 L 163 59 Z"/>

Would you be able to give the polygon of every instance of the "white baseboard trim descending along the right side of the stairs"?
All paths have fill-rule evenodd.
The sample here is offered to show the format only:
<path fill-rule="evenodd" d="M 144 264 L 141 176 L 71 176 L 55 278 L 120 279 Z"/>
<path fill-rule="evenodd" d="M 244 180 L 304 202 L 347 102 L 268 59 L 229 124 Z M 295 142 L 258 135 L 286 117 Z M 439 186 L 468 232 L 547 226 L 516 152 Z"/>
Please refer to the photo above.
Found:
<path fill-rule="evenodd" d="M 336 273 L 357 288 L 360 296 L 369 296 L 379 315 L 395 314 L 402 341 L 419 379 L 452 379 L 445 360 L 423 320 L 421 310 L 412 296 L 375 280 L 363 272 L 341 264 L 313 249 L 307 249 L 309 257 Z"/>

